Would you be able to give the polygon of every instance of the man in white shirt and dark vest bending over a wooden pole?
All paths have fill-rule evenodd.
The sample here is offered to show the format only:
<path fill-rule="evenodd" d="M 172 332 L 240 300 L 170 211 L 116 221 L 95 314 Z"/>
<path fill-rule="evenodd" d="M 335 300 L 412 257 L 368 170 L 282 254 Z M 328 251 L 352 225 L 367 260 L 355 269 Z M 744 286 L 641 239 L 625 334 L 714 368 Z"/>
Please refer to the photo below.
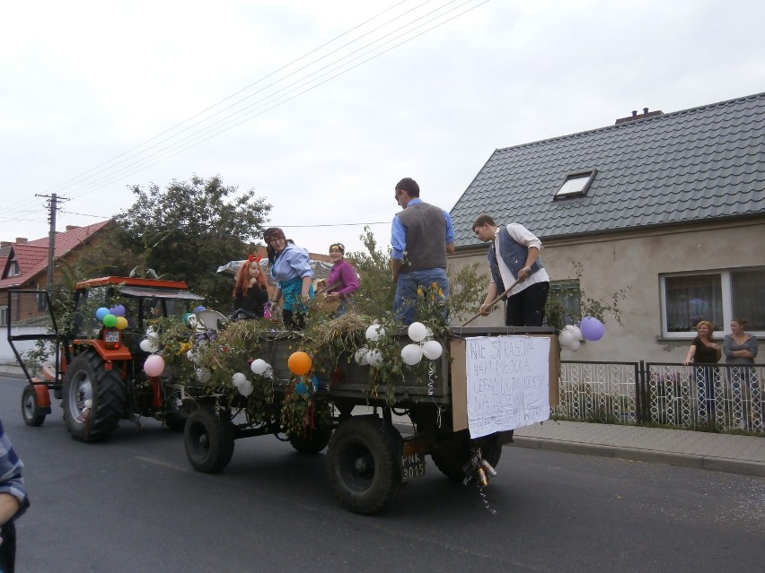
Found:
<path fill-rule="evenodd" d="M 480 215 L 473 223 L 473 232 L 488 249 L 488 268 L 491 282 L 480 314 L 491 311 L 489 302 L 506 293 L 505 326 L 542 326 L 544 306 L 550 292 L 550 277 L 541 264 L 541 240 L 523 225 L 511 223 L 499 227 L 489 215 Z"/>

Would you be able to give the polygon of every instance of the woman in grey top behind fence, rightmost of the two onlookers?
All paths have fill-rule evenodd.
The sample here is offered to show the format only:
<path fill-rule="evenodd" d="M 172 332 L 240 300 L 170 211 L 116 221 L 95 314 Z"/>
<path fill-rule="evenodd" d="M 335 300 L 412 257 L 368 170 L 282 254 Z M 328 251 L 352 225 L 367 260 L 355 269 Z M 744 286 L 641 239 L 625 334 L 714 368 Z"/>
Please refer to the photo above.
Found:
<path fill-rule="evenodd" d="M 728 369 L 734 400 L 734 423 L 742 430 L 762 431 L 762 404 L 760 382 L 754 366 L 757 356 L 757 337 L 743 332 L 743 318 L 731 320 L 731 334 L 725 334 L 725 363 L 741 364 L 741 368 Z M 747 399 L 748 398 L 748 399 Z M 747 407 L 748 404 L 748 407 Z"/>

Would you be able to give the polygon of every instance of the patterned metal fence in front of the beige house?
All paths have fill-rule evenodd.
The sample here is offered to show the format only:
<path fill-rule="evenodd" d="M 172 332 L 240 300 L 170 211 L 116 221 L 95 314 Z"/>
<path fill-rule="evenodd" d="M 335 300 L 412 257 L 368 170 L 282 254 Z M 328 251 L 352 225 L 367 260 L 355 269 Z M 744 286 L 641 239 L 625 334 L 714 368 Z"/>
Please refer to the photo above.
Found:
<path fill-rule="evenodd" d="M 559 382 L 570 420 L 765 432 L 763 366 L 563 360 Z"/>

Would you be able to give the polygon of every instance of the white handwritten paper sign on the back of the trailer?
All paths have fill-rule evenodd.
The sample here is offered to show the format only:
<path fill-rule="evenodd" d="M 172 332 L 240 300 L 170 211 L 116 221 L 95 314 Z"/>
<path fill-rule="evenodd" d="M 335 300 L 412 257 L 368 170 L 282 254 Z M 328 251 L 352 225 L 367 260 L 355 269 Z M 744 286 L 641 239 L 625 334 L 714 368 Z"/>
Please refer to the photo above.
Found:
<path fill-rule="evenodd" d="M 550 419 L 550 338 L 467 339 L 470 438 Z"/>

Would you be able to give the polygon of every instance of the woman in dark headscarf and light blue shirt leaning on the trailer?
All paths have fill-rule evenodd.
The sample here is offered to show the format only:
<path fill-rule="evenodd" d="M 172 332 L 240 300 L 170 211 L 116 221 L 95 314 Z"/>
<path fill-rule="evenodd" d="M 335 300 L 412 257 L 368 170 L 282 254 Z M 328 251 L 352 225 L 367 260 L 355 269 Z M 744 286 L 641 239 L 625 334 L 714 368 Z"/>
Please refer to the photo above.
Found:
<path fill-rule="evenodd" d="M 313 270 L 308 251 L 287 241 L 284 231 L 278 227 L 265 230 L 263 240 L 271 263 L 271 278 L 277 283 L 274 304 L 284 298 L 282 318 L 285 326 L 303 328 L 305 314 L 313 300 Z"/>

